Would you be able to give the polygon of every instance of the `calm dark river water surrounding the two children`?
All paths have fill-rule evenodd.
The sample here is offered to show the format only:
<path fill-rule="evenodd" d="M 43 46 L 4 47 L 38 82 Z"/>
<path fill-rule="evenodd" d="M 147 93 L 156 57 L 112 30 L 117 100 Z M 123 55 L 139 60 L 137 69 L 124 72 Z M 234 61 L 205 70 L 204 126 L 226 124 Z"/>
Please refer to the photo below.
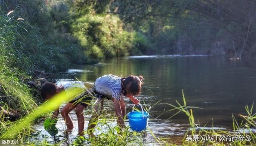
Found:
<path fill-rule="evenodd" d="M 200 125 L 208 123 L 206 128 L 231 131 L 232 114 L 240 121 L 238 114 L 246 114 L 244 106 L 252 105 L 256 101 L 256 66 L 250 63 L 253 61 L 204 55 L 130 56 L 105 60 L 96 65 L 73 67 L 60 73 L 57 84 L 65 84 L 76 78 L 93 83 L 95 79 L 106 74 L 120 77 L 143 75 L 145 80 L 142 93 L 137 98 L 151 106 L 161 100 L 149 112 L 149 128 L 155 136 L 170 138 L 170 141 L 179 143 L 188 130 L 188 117 L 180 113 L 168 119 L 175 112 L 164 112 L 164 109 L 172 109 L 166 103 L 177 105 L 176 100 L 183 103 L 183 89 L 186 105 L 202 108 L 193 109 L 195 120 L 199 121 Z M 130 112 L 133 104 L 127 98 L 125 101 L 126 112 Z M 112 102 L 106 101 L 104 110 L 108 111 L 109 116 L 115 116 Z M 84 110 L 85 127 L 91 113 L 92 107 Z M 159 116 L 161 113 L 163 114 Z M 75 128 L 67 144 L 72 143 L 78 129 L 75 112 L 72 111 L 70 116 Z M 156 117 L 158 118 L 155 119 Z M 115 125 L 116 122 L 113 120 L 111 124 Z M 56 126 L 59 129 L 58 135 L 62 135 L 65 124 L 60 115 Z M 34 129 L 41 131 L 39 136 L 48 135 L 42 123 L 35 124 Z M 147 133 L 144 137 L 145 144 L 154 144 L 152 134 Z M 53 142 L 51 136 L 47 140 Z"/>

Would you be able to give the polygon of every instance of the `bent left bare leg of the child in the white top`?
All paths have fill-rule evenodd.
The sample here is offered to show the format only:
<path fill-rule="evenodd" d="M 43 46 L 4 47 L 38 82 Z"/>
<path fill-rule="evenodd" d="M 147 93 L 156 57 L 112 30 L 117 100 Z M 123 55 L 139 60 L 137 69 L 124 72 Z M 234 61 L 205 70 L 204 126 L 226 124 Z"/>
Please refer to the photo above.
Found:
<path fill-rule="evenodd" d="M 70 118 L 70 116 L 68 115 L 68 113 L 73 110 L 74 108 L 76 108 L 77 105 L 72 104 L 72 103 L 67 103 L 63 109 L 60 111 L 62 117 L 64 118 L 64 121 L 67 125 L 67 130 L 72 130 L 74 128 L 73 122 Z"/>

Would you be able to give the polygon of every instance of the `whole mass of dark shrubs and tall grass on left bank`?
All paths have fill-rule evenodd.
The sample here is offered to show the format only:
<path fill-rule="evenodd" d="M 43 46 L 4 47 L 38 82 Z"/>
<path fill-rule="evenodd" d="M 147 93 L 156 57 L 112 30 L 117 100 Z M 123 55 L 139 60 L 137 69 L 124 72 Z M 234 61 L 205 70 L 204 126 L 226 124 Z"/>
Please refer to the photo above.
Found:
<path fill-rule="evenodd" d="M 34 70 L 58 72 L 86 56 L 76 39 L 61 33 L 44 0 L 0 1 L 0 106 L 28 114 L 40 103 L 26 82 Z"/>

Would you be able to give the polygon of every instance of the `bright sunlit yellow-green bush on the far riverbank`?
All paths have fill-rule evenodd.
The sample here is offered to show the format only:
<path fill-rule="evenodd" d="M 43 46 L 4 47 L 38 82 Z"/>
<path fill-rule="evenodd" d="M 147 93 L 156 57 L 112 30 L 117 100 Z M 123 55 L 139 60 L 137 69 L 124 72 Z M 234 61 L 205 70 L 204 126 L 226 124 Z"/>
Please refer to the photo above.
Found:
<path fill-rule="evenodd" d="M 88 57 L 101 59 L 141 55 L 152 49 L 146 36 L 126 32 L 122 21 L 114 15 L 86 14 L 72 24 L 72 32 Z"/>

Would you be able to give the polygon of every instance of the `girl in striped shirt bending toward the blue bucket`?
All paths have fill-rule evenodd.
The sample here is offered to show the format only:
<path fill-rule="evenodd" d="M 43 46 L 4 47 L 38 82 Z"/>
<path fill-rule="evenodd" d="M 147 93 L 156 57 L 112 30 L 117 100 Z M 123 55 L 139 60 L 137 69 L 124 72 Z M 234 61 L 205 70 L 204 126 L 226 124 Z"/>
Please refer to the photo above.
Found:
<path fill-rule="evenodd" d="M 127 97 L 134 104 L 140 103 L 134 96 L 140 94 L 143 77 L 130 75 L 128 77 L 118 77 L 116 75 L 104 75 L 96 79 L 92 90 L 94 93 L 103 95 L 96 99 L 94 113 L 90 118 L 88 125 L 89 132 L 92 132 L 96 126 L 95 122 L 98 120 L 98 116 L 102 113 L 103 103 L 105 97 L 111 99 L 114 102 L 116 115 L 118 116 L 117 124 L 124 128 L 124 116 L 125 116 L 125 103 L 123 97 Z M 91 136 L 93 134 L 91 133 Z"/>

